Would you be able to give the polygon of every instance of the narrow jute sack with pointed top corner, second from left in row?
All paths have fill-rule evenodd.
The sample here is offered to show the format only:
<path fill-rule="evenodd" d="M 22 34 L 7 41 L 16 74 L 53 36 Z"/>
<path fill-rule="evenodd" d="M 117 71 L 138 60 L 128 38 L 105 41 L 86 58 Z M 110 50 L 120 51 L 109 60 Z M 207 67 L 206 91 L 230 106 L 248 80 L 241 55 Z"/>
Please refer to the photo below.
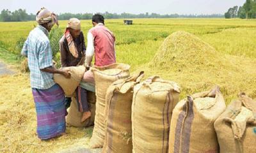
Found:
<path fill-rule="evenodd" d="M 132 96 L 144 72 L 111 84 L 106 94 L 106 136 L 103 153 L 132 153 Z"/>

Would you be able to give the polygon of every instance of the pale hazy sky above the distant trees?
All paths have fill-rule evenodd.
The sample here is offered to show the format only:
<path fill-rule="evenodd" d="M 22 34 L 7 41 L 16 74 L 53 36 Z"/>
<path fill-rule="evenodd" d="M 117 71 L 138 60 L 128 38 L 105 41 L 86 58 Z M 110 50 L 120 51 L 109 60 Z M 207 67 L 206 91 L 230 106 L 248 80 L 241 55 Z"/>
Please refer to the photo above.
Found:
<path fill-rule="evenodd" d="M 245 0 L 0 0 L 0 10 L 19 8 L 36 13 L 42 6 L 54 13 L 161 13 L 212 14 L 225 13 L 232 6 L 241 6 Z"/>

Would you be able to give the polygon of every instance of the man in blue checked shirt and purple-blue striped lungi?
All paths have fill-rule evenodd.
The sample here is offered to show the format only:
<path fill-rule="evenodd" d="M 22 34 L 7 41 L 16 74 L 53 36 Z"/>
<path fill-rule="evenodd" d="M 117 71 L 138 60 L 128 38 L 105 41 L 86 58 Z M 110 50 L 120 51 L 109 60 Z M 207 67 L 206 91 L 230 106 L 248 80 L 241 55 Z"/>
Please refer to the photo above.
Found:
<path fill-rule="evenodd" d="M 38 138 L 47 140 L 65 133 L 65 94 L 53 80 L 53 73 L 70 78 L 70 73 L 52 66 L 52 50 L 48 38 L 56 15 L 42 8 L 36 13 L 38 26 L 30 33 L 21 54 L 28 57 L 31 88 L 36 106 Z"/>

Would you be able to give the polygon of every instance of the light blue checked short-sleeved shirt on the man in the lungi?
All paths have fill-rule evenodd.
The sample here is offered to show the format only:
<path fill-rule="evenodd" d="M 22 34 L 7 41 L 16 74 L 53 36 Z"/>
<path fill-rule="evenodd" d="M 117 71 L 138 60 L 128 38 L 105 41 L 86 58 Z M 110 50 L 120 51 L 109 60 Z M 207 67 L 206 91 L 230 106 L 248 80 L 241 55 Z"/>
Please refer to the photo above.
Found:
<path fill-rule="evenodd" d="M 52 66 L 52 50 L 48 31 L 42 25 L 33 29 L 24 43 L 21 54 L 28 56 L 31 87 L 49 89 L 55 82 L 52 73 L 40 69 Z"/>

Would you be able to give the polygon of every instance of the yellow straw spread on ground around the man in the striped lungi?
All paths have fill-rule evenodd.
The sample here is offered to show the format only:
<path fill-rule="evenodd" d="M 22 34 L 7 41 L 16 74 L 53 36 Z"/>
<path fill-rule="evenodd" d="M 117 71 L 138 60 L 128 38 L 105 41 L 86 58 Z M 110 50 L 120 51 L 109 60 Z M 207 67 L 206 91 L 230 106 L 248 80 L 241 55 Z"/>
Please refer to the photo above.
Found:
<path fill-rule="evenodd" d="M 0 152 L 59 152 L 87 147 L 92 128 L 69 128 L 67 135 L 41 141 L 29 75 L 0 77 Z"/>

